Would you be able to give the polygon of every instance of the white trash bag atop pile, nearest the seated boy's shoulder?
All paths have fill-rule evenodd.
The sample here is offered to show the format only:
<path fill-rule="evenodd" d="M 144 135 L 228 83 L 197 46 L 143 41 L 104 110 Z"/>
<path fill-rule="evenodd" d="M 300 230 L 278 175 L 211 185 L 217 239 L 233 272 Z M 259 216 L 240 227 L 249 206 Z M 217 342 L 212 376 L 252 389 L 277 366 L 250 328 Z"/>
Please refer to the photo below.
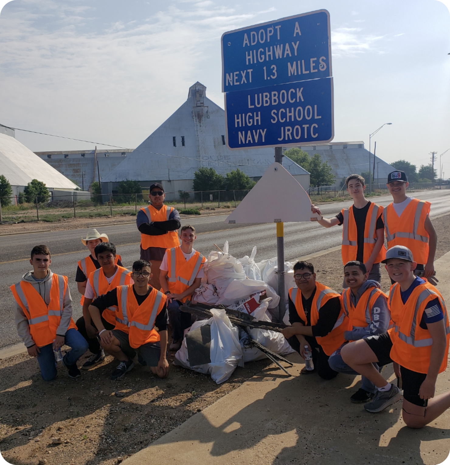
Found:
<path fill-rule="evenodd" d="M 223 252 L 213 250 L 208 261 L 203 265 L 208 284 L 214 284 L 217 294 L 222 296 L 228 285 L 234 279 L 246 279 L 241 262 L 228 253 L 228 240 L 225 241 Z"/>

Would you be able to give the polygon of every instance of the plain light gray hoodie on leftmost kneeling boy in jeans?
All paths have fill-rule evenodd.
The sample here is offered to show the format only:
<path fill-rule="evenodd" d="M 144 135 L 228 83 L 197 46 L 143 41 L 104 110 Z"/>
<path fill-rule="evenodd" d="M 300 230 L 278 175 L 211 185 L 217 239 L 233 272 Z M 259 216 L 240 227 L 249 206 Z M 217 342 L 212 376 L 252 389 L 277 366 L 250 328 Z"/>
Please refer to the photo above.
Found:
<path fill-rule="evenodd" d="M 53 273 L 51 270 L 48 270 L 47 276 L 43 281 L 35 281 L 33 278 L 33 272 L 29 271 L 23 275 L 22 281 L 26 281 L 33 285 L 34 289 L 39 292 L 40 296 L 44 299 L 46 305 L 50 303 L 50 289 L 52 288 L 52 276 Z M 72 297 L 70 296 L 70 290 L 67 286 L 65 292 L 64 301 L 63 301 L 63 314 L 61 315 L 61 321 L 56 330 L 58 336 L 65 336 L 65 332 L 70 325 L 72 318 Z M 25 313 L 22 310 L 22 307 L 15 302 L 14 309 L 14 321 L 17 326 L 17 333 L 19 334 L 20 339 L 26 347 L 31 347 L 34 345 L 33 338 L 30 334 L 30 326 L 28 324 L 28 318 L 25 316 Z"/>

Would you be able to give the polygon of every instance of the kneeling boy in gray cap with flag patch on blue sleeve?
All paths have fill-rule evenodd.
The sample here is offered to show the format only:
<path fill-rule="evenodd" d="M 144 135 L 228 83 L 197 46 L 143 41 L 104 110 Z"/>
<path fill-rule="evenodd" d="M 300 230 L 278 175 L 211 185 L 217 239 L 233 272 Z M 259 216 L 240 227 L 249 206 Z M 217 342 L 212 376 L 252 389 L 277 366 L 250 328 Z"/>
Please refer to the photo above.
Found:
<path fill-rule="evenodd" d="M 347 365 L 378 387 L 372 402 L 364 405 L 368 412 L 381 412 L 402 396 L 372 365 L 393 361 L 403 384 L 403 420 L 411 428 L 422 428 L 450 407 L 450 391 L 434 397 L 437 375 L 447 367 L 447 309 L 436 287 L 414 276 L 417 263 L 407 247 L 389 249 L 385 263 L 389 277 L 396 281 L 388 300 L 395 326 L 347 344 L 341 355 Z"/>

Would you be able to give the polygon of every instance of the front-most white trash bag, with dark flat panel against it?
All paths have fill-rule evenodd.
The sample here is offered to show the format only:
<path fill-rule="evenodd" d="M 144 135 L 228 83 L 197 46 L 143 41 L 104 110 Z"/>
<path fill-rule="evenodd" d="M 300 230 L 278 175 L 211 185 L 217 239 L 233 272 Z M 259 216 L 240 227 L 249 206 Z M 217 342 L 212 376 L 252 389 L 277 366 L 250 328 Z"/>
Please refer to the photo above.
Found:
<path fill-rule="evenodd" d="M 225 310 L 214 308 L 211 313 L 212 318 L 196 321 L 189 329 L 191 332 L 200 326 L 211 326 L 210 363 L 190 366 L 186 338 L 183 339 L 180 350 L 176 352 L 173 363 L 199 373 L 210 374 L 211 378 L 220 384 L 231 376 L 236 366 L 244 366 L 243 355 L 239 344 L 239 329 L 230 323 Z"/>

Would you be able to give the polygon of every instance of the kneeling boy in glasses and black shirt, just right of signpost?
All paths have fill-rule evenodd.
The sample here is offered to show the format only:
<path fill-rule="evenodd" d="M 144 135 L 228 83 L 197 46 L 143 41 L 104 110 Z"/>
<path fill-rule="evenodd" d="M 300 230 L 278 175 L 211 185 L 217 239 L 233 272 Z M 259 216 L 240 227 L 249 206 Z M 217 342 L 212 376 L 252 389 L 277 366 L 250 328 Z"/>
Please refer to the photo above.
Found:
<path fill-rule="evenodd" d="M 337 372 L 328 365 L 329 356 L 344 344 L 348 318 L 340 304 L 340 295 L 316 282 L 314 267 L 308 262 L 297 262 L 294 267 L 297 287 L 289 289 L 289 321 L 292 326 L 282 333 L 291 347 L 305 358 L 305 347 L 312 352 L 314 370 L 320 378 L 333 379 Z"/>

